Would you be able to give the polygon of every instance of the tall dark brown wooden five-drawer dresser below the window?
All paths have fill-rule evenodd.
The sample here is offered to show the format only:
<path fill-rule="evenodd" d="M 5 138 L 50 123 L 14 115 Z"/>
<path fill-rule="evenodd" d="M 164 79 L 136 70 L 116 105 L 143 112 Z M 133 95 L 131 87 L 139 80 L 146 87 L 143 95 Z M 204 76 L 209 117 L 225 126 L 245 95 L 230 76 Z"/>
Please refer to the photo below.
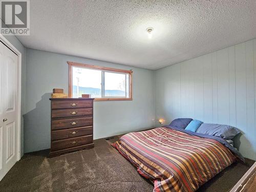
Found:
<path fill-rule="evenodd" d="M 50 98 L 49 157 L 93 148 L 93 98 Z"/>

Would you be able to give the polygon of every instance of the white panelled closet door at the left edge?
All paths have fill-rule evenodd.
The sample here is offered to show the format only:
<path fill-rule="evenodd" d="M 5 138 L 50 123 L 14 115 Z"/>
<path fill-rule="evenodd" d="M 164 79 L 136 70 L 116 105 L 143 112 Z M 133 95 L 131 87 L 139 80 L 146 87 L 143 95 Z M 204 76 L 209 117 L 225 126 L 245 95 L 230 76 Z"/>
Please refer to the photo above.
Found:
<path fill-rule="evenodd" d="M 17 161 L 18 56 L 0 42 L 0 181 Z"/>

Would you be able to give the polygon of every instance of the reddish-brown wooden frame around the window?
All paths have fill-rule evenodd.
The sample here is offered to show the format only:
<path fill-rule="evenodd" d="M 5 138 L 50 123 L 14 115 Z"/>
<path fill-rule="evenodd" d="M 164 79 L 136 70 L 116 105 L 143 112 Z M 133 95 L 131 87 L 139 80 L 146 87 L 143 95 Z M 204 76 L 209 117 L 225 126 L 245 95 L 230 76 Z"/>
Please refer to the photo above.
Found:
<path fill-rule="evenodd" d="M 122 69 L 115 69 L 115 68 L 108 68 L 108 67 L 102 67 L 102 66 L 94 66 L 94 65 L 88 65 L 84 63 L 78 63 L 78 62 L 71 62 L 68 61 L 69 65 L 69 97 L 73 96 L 73 67 L 79 67 L 79 68 L 86 68 L 86 69 L 94 69 L 94 70 L 100 70 L 105 72 L 112 72 L 112 73 L 125 73 L 129 74 L 129 80 L 130 80 L 130 88 L 129 88 L 129 97 L 101 97 L 101 98 L 95 98 L 94 101 L 124 101 L 124 100 L 133 100 L 133 71 L 132 70 L 122 70 Z M 127 89 L 127 88 L 126 88 Z"/>

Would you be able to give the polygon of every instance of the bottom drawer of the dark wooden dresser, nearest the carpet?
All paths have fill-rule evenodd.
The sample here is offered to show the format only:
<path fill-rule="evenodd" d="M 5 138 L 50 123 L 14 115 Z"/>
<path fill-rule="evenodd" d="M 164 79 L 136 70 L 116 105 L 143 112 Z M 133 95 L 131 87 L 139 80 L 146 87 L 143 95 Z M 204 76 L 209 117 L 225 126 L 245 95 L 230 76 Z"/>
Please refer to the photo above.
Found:
<path fill-rule="evenodd" d="M 93 143 L 92 135 L 75 137 L 72 139 L 62 139 L 62 140 L 52 141 L 51 151 L 62 150 L 64 148 L 70 148 L 70 147 L 85 145 L 89 143 Z"/>

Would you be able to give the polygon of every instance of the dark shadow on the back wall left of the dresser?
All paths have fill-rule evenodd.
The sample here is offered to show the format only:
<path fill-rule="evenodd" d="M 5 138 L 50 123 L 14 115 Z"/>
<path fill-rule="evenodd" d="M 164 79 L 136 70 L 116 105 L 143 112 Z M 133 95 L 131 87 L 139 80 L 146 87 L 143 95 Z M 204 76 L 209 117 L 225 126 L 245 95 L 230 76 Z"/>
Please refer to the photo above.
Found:
<path fill-rule="evenodd" d="M 51 145 L 51 93 L 42 95 L 35 109 L 24 117 L 24 153 L 45 150 Z"/>

